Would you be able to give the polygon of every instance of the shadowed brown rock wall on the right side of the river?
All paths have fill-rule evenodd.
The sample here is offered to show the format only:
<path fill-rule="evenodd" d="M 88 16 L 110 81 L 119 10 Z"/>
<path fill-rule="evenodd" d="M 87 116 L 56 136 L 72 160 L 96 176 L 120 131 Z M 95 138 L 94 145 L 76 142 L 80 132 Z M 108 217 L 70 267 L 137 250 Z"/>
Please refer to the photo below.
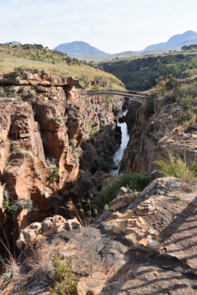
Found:
<path fill-rule="evenodd" d="M 131 124 L 129 144 L 122 159 L 130 171 L 156 171 L 153 161 L 167 159 L 167 152 L 186 159 L 188 164 L 196 158 L 197 135 L 185 133 L 178 124 L 178 118 L 183 114 L 180 104 L 167 104 L 162 99 L 155 102 L 155 110 L 147 120 L 144 108 L 138 109 L 135 124 Z"/>

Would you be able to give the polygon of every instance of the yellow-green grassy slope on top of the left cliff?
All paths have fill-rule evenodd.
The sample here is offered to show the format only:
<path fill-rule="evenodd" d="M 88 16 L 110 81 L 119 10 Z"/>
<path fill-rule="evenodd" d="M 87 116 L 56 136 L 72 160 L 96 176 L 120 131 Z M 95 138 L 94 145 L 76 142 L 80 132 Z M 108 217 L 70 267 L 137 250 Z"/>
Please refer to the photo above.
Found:
<path fill-rule="evenodd" d="M 14 70 L 48 70 L 59 75 L 73 76 L 85 87 L 102 83 L 104 86 L 118 87 L 122 82 L 109 73 L 88 66 L 78 59 L 68 57 L 59 51 L 48 50 L 41 45 L 0 44 L 0 73 Z"/>

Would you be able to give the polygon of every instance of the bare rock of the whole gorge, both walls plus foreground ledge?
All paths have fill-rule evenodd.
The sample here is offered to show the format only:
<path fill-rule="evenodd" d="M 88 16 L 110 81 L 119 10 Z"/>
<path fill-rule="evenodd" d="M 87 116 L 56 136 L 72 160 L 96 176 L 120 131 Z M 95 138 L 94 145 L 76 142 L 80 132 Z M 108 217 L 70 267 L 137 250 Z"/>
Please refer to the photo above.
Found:
<path fill-rule="evenodd" d="M 120 172 L 146 171 L 153 181 L 142 192 L 122 187 L 83 227 L 68 218 L 66 204 L 95 196 L 109 178 L 121 144 L 115 116 L 126 99 L 83 98 L 81 88 L 72 77 L 46 71 L 0 75 L 1 237 L 4 231 L 11 248 L 15 238 L 23 267 L 35 253 L 72 257 L 73 294 L 196 294 L 196 183 L 160 178 L 153 164 L 167 152 L 196 159 L 196 131 L 178 122 L 181 104 L 169 97 L 129 104 L 121 119 L 129 143 Z M 5 200 L 20 205 L 15 214 Z M 1 294 L 50 294 L 47 288 L 21 268 Z"/>

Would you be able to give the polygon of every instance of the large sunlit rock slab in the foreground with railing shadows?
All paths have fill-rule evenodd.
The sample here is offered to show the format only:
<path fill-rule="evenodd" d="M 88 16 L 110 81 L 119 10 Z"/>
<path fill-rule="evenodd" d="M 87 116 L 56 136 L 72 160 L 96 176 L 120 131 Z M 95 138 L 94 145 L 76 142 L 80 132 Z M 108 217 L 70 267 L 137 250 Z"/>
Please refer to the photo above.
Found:
<path fill-rule="evenodd" d="M 42 234 L 35 239 L 28 234 L 30 227 L 23 231 L 24 236 L 32 237 L 32 244 L 19 261 L 26 265 L 34 251 L 48 260 L 56 251 L 61 251 L 62 261 L 72 257 L 75 294 L 79 295 L 196 294 L 194 189 L 176 178 L 160 178 L 142 193 L 122 188 L 91 227 L 69 230 L 62 227 L 65 221 L 58 216 L 52 220 L 53 224 L 56 219 L 61 223 L 56 233 L 49 218 L 42 225 L 32 224 L 31 232 Z M 45 223 L 49 229 L 46 235 Z M 34 273 L 22 274 L 12 278 L 2 294 L 34 292 L 34 282 Z"/>

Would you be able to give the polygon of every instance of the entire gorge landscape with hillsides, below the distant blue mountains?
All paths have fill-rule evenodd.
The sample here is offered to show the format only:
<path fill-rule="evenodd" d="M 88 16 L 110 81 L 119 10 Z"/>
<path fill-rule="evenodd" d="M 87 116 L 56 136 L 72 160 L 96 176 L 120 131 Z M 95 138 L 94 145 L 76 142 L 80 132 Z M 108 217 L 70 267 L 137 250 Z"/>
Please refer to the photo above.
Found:
<path fill-rule="evenodd" d="M 4 45 L 1 294 L 196 294 L 195 50 Z"/>

